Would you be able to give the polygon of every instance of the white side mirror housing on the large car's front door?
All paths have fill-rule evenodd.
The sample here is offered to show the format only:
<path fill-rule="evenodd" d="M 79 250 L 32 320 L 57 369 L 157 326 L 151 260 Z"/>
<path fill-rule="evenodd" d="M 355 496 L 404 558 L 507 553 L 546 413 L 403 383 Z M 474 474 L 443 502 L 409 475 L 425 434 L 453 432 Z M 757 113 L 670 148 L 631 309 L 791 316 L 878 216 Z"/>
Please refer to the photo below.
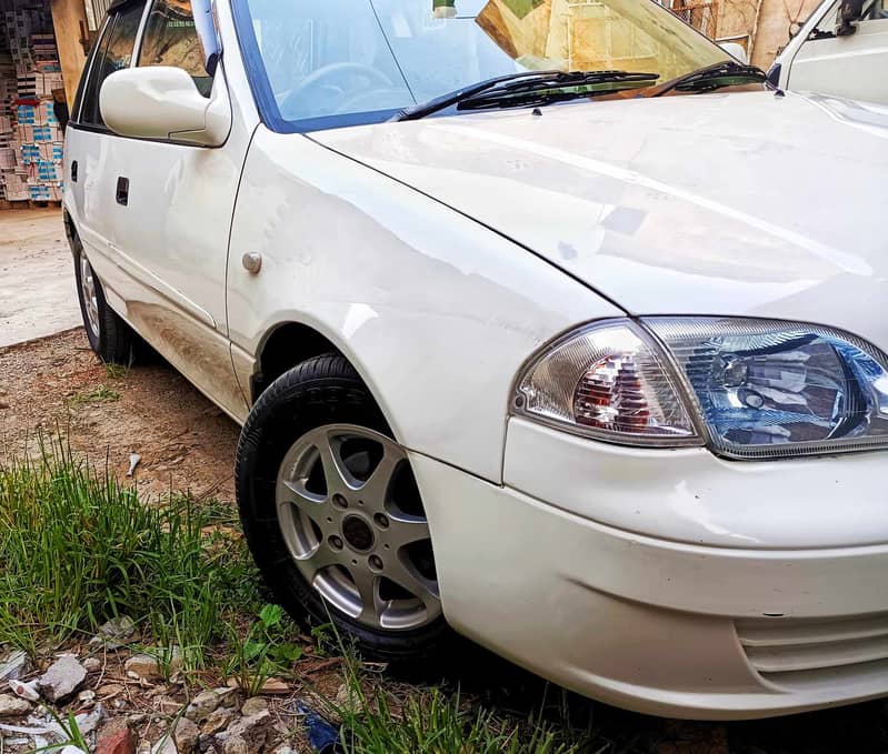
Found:
<path fill-rule="evenodd" d="M 127 68 L 109 76 L 99 93 L 106 124 L 121 137 L 198 147 L 221 147 L 231 130 L 225 87 L 203 97 L 181 68 Z"/>

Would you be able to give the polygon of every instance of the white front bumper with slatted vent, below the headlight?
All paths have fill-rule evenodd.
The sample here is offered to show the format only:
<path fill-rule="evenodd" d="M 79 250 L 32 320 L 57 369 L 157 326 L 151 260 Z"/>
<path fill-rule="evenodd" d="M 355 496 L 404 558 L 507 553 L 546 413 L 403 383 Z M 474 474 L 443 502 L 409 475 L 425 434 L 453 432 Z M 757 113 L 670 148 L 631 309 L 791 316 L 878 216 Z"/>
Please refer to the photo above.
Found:
<path fill-rule="evenodd" d="M 553 451 L 572 452 L 567 445 L 587 454 L 591 475 L 582 484 L 576 470 L 546 474 Z M 621 474 L 596 476 L 601 462 L 596 455 L 615 452 L 621 456 Z M 698 496 L 694 490 L 701 482 L 688 471 L 692 463 L 685 463 L 694 453 L 701 454 L 699 474 L 712 504 L 719 491 L 711 489 L 711 456 L 681 451 L 672 463 L 684 469 L 685 492 Z M 749 718 L 888 694 L 888 544 L 775 546 L 761 541 L 764 530 L 752 523 L 749 531 L 757 531 L 758 539 L 748 536 L 754 543 L 747 546 L 633 532 L 638 514 L 631 501 L 637 500 L 639 511 L 649 504 L 639 477 L 647 475 L 652 458 L 519 420 L 509 430 L 507 486 L 413 455 L 445 613 L 453 627 L 561 685 L 648 714 Z M 849 483 L 862 484 L 857 497 L 880 497 L 888 507 L 885 486 L 871 481 L 884 471 L 872 477 L 866 472 L 867 464 L 884 470 L 885 458 L 870 454 L 862 463 L 860 458 L 829 465 L 830 473 L 839 474 L 844 492 Z M 775 465 L 790 476 L 798 472 L 791 463 Z M 750 469 L 740 472 L 747 475 L 741 479 L 758 484 Z M 864 481 L 849 482 L 844 469 Z M 722 497 L 731 502 L 738 492 L 735 470 L 724 472 L 731 489 Z M 657 479 L 674 485 L 668 474 Z M 602 524 L 561 502 L 543 502 L 513 489 L 515 480 L 537 480 L 537 487 L 551 490 L 572 485 L 572 493 L 562 490 L 560 500 L 616 496 L 627 506 L 626 525 Z M 663 530 L 684 531 L 670 520 L 676 510 L 667 505 L 668 494 L 657 481 L 642 486 L 651 496 L 663 494 Z M 802 487 L 797 491 L 810 497 L 808 519 L 822 519 L 822 501 Z M 627 490 L 633 491 L 628 499 Z M 855 500 L 837 497 L 835 490 L 819 494 L 834 496 L 837 515 Z M 767 502 L 779 506 L 781 501 Z M 750 501 L 754 514 L 761 503 Z M 711 524 L 717 516 L 706 510 Z M 744 530 L 734 515 L 731 535 Z M 798 530 L 812 526 L 799 522 Z M 718 525 L 710 527 L 714 540 L 725 535 Z M 792 536 L 799 535 L 779 533 L 774 541 Z M 877 529 L 868 536 L 877 537 Z"/>

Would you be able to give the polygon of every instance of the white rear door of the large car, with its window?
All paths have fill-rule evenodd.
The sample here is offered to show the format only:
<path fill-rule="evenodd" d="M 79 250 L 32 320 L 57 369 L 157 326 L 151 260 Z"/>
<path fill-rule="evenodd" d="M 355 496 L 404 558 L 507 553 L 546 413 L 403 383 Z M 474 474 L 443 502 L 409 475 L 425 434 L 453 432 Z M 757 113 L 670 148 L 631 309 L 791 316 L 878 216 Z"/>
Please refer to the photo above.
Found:
<path fill-rule="evenodd" d="M 114 225 L 109 205 L 113 201 L 109 178 L 112 147 L 118 137 L 104 124 L 99 91 L 111 73 L 131 64 L 143 10 L 143 0 L 132 0 L 117 3 L 106 18 L 66 132 L 66 208 L 116 309 L 128 282 L 114 259 Z"/>

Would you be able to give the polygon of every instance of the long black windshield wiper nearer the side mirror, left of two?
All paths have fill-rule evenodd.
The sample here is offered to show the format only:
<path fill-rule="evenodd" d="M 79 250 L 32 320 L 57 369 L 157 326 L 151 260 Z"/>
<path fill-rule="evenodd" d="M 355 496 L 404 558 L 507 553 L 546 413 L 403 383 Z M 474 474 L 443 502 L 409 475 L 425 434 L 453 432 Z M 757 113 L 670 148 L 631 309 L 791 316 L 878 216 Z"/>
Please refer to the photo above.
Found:
<path fill-rule="evenodd" d="M 527 71 L 498 76 L 457 89 L 401 110 L 392 121 L 418 120 L 458 105 L 460 110 L 549 104 L 577 97 L 590 97 L 619 89 L 650 86 L 658 73 L 630 71 Z M 563 91 L 572 89 L 572 91 Z"/>

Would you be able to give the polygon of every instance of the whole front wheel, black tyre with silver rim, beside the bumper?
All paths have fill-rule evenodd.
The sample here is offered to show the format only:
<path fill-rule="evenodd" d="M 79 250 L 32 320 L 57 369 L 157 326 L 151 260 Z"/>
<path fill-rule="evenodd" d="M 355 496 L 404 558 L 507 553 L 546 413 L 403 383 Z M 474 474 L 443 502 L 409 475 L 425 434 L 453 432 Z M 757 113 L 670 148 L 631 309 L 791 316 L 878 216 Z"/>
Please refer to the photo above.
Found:
<path fill-rule="evenodd" d="M 311 359 L 273 382 L 250 413 L 238 444 L 237 496 L 256 563 L 297 621 L 332 621 L 365 657 L 416 661 L 440 655 L 452 634 L 437 597 L 425 512 L 413 500 L 419 491 L 391 438 L 346 359 Z M 351 486 L 341 486 L 343 477 Z M 339 502 L 335 490 L 345 490 Z M 428 542 L 399 544 L 413 536 Z"/>

